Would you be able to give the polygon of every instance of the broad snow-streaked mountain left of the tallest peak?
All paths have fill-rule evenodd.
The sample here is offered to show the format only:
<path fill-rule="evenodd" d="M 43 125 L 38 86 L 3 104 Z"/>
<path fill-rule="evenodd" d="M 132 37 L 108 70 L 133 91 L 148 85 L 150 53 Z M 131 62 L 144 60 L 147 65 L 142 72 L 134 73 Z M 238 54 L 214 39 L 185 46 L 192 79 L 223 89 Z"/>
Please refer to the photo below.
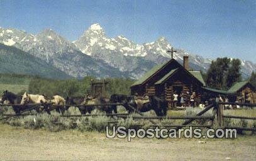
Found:
<path fill-rule="evenodd" d="M 73 77 L 94 75 L 96 77 L 126 77 L 120 70 L 109 67 L 103 61 L 94 60 L 82 53 L 74 43 L 65 40 L 53 30 L 47 29 L 37 35 L 25 31 L 0 29 L 0 43 L 14 46 Z"/>

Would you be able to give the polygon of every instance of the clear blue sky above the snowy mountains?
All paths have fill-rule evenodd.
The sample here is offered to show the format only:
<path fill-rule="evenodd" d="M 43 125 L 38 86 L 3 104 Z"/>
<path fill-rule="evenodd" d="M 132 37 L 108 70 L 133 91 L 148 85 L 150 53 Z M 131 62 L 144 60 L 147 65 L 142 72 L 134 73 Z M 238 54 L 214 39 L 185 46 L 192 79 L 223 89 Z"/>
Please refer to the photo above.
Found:
<path fill-rule="evenodd" d="M 0 0 L 0 26 L 38 33 L 52 28 L 77 40 L 92 23 L 106 35 L 136 43 L 165 36 L 203 57 L 256 62 L 256 1 L 10 1 Z"/>

